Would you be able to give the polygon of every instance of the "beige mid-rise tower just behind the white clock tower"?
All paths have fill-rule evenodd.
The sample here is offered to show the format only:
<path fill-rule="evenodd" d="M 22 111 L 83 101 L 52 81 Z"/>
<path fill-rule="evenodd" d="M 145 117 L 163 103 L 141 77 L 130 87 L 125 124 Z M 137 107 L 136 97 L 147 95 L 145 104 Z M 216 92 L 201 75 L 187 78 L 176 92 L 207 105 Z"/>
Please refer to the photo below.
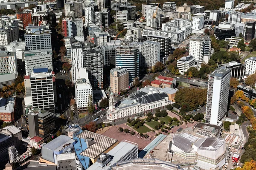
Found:
<path fill-rule="evenodd" d="M 128 88 L 129 73 L 126 68 L 113 68 L 110 71 L 110 88 L 113 94 L 118 94 Z"/>

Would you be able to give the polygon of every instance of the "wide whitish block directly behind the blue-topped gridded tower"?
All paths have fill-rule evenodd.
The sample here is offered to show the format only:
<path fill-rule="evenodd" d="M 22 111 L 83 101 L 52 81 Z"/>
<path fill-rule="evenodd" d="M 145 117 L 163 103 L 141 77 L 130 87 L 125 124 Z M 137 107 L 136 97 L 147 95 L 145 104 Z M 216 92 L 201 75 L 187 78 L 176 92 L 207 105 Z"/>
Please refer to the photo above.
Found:
<path fill-rule="evenodd" d="M 30 75 L 33 68 L 48 68 L 52 70 L 52 50 L 25 51 L 26 75 Z"/>

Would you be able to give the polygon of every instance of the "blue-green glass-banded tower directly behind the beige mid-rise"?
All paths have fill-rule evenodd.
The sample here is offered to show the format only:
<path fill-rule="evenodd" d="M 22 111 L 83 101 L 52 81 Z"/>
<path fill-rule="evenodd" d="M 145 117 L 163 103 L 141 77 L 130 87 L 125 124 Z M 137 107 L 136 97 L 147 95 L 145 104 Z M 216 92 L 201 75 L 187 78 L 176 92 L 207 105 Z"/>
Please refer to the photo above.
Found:
<path fill-rule="evenodd" d="M 139 77 L 140 54 L 136 45 L 117 45 L 116 46 L 116 68 L 126 68 L 129 72 L 129 82 L 135 77 Z"/>

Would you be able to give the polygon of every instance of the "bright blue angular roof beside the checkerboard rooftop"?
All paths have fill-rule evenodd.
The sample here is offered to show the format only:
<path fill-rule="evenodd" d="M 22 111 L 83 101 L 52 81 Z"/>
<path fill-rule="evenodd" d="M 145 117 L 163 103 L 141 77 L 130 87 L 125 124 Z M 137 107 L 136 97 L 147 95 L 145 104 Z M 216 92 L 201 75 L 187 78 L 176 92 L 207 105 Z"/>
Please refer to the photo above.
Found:
<path fill-rule="evenodd" d="M 79 133 L 81 133 L 81 132 L 83 132 L 83 131 L 81 130 Z M 76 134 L 76 135 L 78 135 L 78 134 Z M 73 137 L 73 139 L 76 140 L 76 144 L 74 144 L 76 156 L 79 159 L 79 162 L 82 164 L 82 166 L 86 170 L 90 166 L 90 158 L 87 156 L 82 156 L 82 155 L 80 155 L 80 153 L 83 152 L 83 150 L 87 149 L 87 143 L 86 143 L 86 140 L 83 140 L 83 139 L 77 137 L 76 135 L 74 134 L 74 137 Z"/>

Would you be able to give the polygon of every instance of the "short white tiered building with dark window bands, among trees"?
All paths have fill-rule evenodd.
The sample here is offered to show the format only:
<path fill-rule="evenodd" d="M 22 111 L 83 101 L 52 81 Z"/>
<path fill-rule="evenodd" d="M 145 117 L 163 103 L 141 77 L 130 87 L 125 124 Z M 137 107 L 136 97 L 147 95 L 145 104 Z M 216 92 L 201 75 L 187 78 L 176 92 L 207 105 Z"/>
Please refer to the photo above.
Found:
<path fill-rule="evenodd" d="M 177 60 L 177 68 L 179 73 L 184 75 L 184 72 L 188 71 L 189 68 L 195 66 L 195 58 L 192 56 L 181 57 Z"/>

